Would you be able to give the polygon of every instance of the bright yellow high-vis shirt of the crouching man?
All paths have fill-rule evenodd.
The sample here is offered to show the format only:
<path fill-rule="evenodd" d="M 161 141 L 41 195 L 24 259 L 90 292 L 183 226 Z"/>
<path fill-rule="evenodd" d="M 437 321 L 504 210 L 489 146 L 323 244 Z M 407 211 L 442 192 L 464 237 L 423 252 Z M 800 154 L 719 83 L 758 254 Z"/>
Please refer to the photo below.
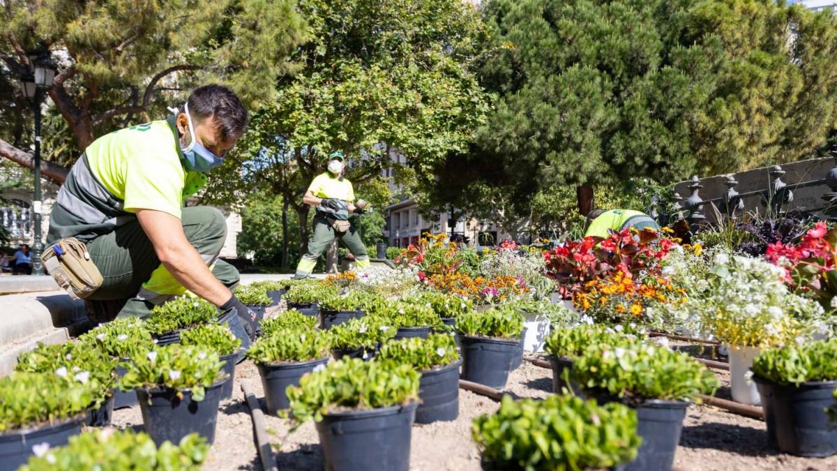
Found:
<path fill-rule="evenodd" d="M 90 172 L 129 213 L 157 210 L 180 218 L 183 201 L 207 181 L 183 168 L 173 116 L 110 132 L 85 154 Z"/>

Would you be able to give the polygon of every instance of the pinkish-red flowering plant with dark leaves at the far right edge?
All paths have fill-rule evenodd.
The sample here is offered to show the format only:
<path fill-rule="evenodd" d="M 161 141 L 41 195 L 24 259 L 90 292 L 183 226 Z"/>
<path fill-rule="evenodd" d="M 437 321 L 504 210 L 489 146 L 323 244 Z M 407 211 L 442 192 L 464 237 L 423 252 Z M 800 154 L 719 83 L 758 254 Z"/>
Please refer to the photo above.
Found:
<path fill-rule="evenodd" d="M 770 244 L 765 258 L 783 268 L 797 292 L 826 309 L 837 308 L 837 229 L 818 222 L 798 244 Z"/>

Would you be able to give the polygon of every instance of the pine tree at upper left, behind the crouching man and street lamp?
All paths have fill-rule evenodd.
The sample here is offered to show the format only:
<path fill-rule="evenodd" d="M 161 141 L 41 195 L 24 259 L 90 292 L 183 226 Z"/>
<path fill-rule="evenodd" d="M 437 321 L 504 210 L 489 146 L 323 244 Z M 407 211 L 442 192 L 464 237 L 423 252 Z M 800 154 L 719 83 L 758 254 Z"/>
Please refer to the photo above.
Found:
<path fill-rule="evenodd" d="M 76 151 L 44 163 L 59 182 L 61 165 L 97 135 L 150 121 L 193 84 L 225 82 L 251 104 L 270 101 L 303 26 L 293 0 L 9 0 L 0 21 L 0 90 L 28 70 L 30 52 L 59 66 L 49 98 Z M 0 114 L 27 108 L 12 90 Z M 31 168 L 22 133 L 19 122 L 0 122 L 0 155 Z"/>

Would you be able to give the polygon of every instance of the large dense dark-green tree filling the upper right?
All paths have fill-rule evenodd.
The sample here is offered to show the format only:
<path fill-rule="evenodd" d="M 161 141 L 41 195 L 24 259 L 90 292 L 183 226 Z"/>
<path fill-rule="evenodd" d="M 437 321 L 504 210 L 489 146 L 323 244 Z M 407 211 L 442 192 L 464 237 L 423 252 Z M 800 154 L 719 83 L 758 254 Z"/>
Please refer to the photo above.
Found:
<path fill-rule="evenodd" d="M 440 192 L 475 199 L 489 187 L 526 215 L 534 195 L 566 185 L 796 160 L 834 127 L 830 12 L 773 0 L 492 0 L 484 13 L 480 83 L 496 112 L 468 153 L 449 154 L 474 178 L 429 182 L 436 204 Z"/>

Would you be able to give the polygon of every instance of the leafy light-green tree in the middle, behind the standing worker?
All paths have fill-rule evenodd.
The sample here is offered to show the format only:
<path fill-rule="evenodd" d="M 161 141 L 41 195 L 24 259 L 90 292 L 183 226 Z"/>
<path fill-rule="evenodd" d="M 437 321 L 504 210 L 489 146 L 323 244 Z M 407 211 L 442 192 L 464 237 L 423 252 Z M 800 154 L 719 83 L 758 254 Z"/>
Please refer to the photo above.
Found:
<path fill-rule="evenodd" d="M 428 173 L 485 121 L 488 102 L 471 67 L 483 26 L 470 3 L 302 0 L 300 11 L 310 25 L 291 56 L 300 69 L 279 80 L 275 99 L 255 113 L 249 143 L 213 173 L 208 194 L 239 199 L 270 188 L 305 221 L 302 194 L 331 150 L 350 158 L 361 194 L 396 149 Z M 308 233 L 301 228 L 300 250 Z"/>

